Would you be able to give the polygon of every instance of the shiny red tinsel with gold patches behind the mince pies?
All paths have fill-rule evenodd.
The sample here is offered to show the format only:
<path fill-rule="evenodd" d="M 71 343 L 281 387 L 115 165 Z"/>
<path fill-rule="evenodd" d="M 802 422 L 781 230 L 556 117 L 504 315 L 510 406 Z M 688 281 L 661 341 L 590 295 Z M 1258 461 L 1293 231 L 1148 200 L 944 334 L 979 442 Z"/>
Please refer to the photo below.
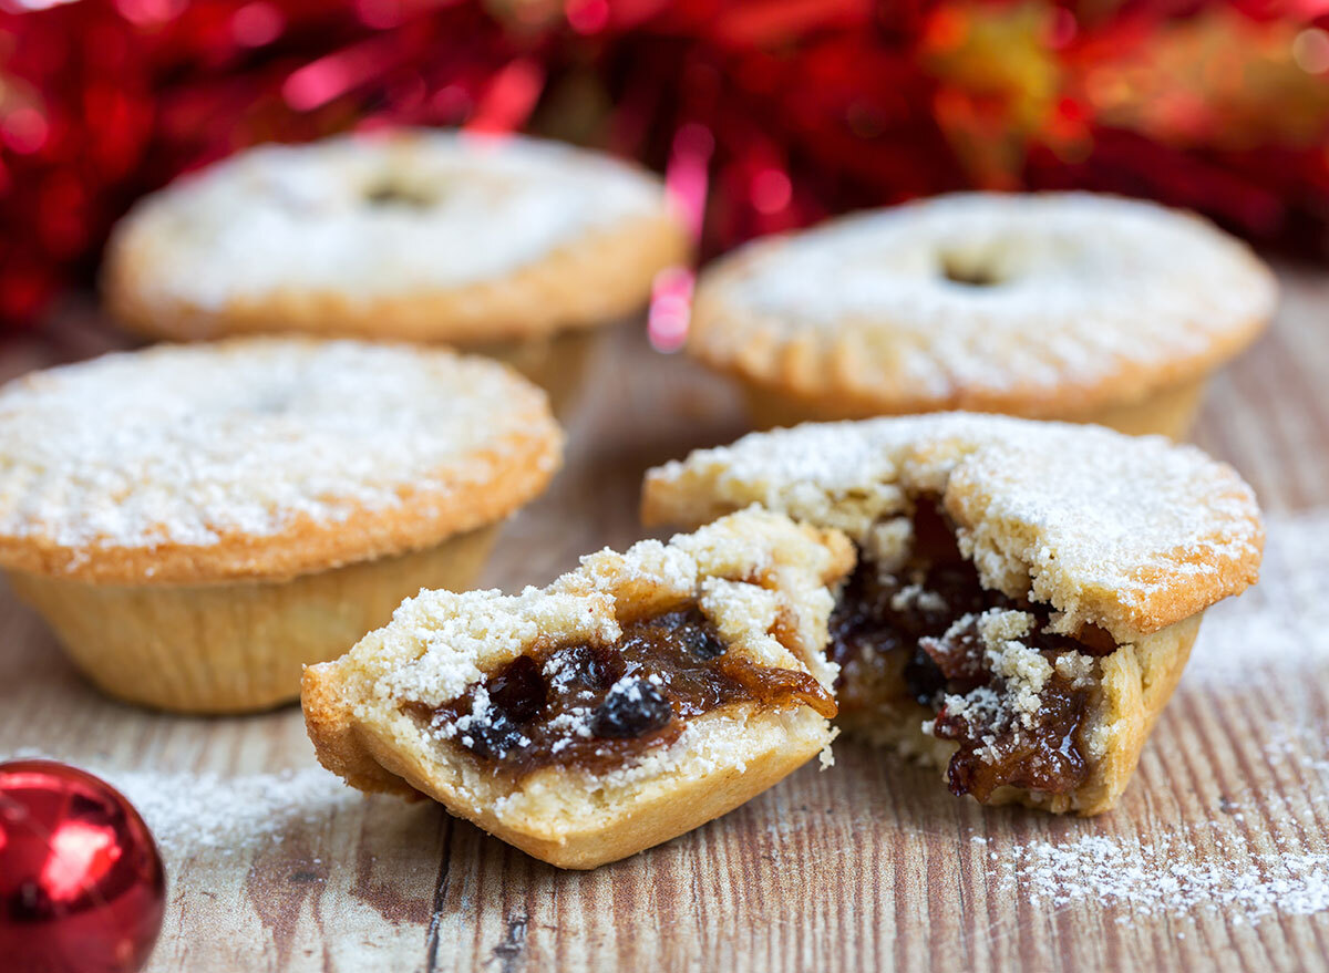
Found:
<path fill-rule="evenodd" d="M 0 320 L 86 280 L 110 223 L 174 174 L 393 124 L 661 169 L 706 133 L 707 254 L 974 185 L 1148 195 L 1325 253 L 1326 0 L 8 3 Z"/>

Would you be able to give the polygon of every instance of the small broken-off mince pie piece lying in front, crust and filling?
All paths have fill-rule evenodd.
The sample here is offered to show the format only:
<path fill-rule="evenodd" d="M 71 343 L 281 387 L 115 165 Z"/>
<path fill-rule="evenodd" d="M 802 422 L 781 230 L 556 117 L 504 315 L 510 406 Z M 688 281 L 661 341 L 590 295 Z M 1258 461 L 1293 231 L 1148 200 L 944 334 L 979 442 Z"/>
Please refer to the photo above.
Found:
<path fill-rule="evenodd" d="M 840 532 L 746 510 L 548 588 L 421 592 L 306 670 L 310 738 L 354 787 L 594 868 L 829 759 L 828 585 L 852 565 Z"/>

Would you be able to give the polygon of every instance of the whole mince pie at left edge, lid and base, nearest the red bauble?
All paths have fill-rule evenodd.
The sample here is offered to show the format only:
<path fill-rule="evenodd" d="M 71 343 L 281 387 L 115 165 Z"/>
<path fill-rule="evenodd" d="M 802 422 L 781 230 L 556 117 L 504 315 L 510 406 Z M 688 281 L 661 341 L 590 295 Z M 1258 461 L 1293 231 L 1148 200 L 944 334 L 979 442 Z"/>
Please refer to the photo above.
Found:
<path fill-rule="evenodd" d="M 361 342 L 159 346 L 0 389 L 0 566 L 112 695 L 299 695 L 425 585 L 473 584 L 562 453 L 497 362 Z"/>

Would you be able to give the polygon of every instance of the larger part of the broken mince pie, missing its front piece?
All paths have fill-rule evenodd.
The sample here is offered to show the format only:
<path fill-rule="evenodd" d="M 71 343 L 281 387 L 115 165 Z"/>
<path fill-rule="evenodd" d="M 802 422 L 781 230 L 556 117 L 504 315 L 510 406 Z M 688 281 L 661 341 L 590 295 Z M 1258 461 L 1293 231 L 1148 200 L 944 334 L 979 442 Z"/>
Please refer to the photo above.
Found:
<path fill-rule="evenodd" d="M 937 413 L 750 435 L 653 469 L 647 522 L 752 504 L 844 530 L 839 722 L 956 795 L 1107 811 L 1213 602 L 1259 574 L 1249 486 L 1193 447 Z"/>

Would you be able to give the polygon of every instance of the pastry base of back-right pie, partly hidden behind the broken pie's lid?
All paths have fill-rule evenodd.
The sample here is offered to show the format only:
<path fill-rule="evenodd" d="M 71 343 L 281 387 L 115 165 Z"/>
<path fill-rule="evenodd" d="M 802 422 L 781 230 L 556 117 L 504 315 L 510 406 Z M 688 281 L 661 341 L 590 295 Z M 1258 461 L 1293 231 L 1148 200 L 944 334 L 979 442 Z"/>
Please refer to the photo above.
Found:
<path fill-rule="evenodd" d="M 1067 423 L 1092 423 L 1130 436 L 1159 435 L 1181 441 L 1187 437 L 1200 405 L 1209 376 L 1174 383 L 1159 388 L 1144 399 L 1119 405 L 1107 405 L 1088 412 L 1050 412 L 1029 416 L 1055 419 Z M 787 391 L 772 391 L 766 385 L 744 380 L 748 416 L 754 428 L 775 429 L 809 421 L 841 419 L 870 419 L 885 415 L 873 407 L 851 399 L 808 399 Z"/>

